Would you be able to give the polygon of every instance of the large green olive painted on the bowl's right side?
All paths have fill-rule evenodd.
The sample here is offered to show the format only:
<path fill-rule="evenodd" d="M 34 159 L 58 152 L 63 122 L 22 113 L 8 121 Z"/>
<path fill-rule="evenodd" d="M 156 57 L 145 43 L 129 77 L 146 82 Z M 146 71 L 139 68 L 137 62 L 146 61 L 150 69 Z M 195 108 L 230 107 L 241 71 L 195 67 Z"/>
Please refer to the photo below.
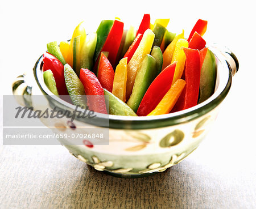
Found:
<path fill-rule="evenodd" d="M 179 144 L 184 138 L 184 133 L 181 130 L 174 130 L 170 134 L 167 134 L 163 139 L 160 140 L 160 147 L 171 147 Z"/>

